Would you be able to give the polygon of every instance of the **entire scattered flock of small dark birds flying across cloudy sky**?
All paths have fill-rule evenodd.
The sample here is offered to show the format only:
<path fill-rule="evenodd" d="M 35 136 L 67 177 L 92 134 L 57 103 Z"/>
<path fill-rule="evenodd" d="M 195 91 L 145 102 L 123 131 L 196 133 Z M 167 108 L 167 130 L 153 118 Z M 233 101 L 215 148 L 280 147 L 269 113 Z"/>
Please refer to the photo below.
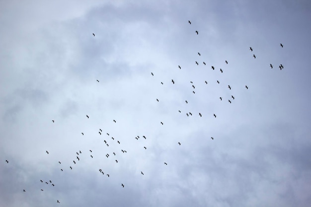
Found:
<path fill-rule="evenodd" d="M 191 21 L 189 20 L 188 23 L 191 24 Z M 197 30 L 195 31 L 195 33 L 196 33 L 197 35 L 199 34 L 199 32 L 198 32 Z M 94 34 L 94 33 L 92 33 L 92 35 L 93 35 L 93 37 L 95 37 L 95 34 Z M 280 44 L 280 47 L 283 48 L 283 44 Z M 252 47 L 249 47 L 249 50 L 250 50 L 250 51 L 253 51 Z M 201 56 L 201 53 L 198 52 L 198 55 Z M 255 54 L 253 54 L 253 57 L 254 57 L 254 59 L 256 59 Z M 228 64 L 228 61 L 225 60 L 225 63 Z M 196 64 L 196 65 L 199 65 L 199 63 L 198 63 L 197 61 L 195 61 L 195 64 Z M 203 64 L 204 64 L 204 66 L 206 66 L 206 63 L 205 63 L 205 62 L 203 62 Z M 271 69 L 273 69 L 273 65 L 272 65 L 272 64 L 270 64 L 270 67 L 271 67 Z M 179 68 L 179 69 L 182 69 L 182 67 L 179 66 L 179 65 L 178 65 L 178 68 Z M 283 68 L 284 68 L 283 65 L 280 64 L 279 69 L 282 70 Z M 215 70 L 215 67 L 214 67 L 214 66 L 211 66 L 211 69 Z M 220 72 L 223 73 L 223 72 L 224 72 L 223 69 L 220 69 Z M 152 76 L 155 75 L 153 72 L 151 72 L 151 74 L 152 74 Z M 99 82 L 99 80 L 96 80 L 96 81 Z M 216 80 L 216 81 L 217 81 L 218 84 L 220 84 L 220 81 L 219 81 L 219 80 Z M 174 81 L 173 79 L 171 79 L 171 82 L 172 82 L 172 84 L 175 84 L 175 81 Z M 194 89 L 195 89 L 196 87 L 195 87 L 195 85 L 193 84 L 192 81 L 190 81 L 190 83 L 192 84 L 192 88 L 193 88 L 193 91 L 192 91 L 192 92 L 193 92 L 193 94 L 195 94 Z M 161 82 L 161 84 L 163 84 L 163 82 Z M 205 80 L 205 84 L 208 84 L 208 82 L 207 82 L 206 80 Z M 228 85 L 228 88 L 229 88 L 229 90 L 232 89 L 232 87 L 231 87 L 230 85 Z M 248 89 L 248 86 L 245 85 L 245 88 Z M 222 101 L 222 100 L 223 100 L 223 97 L 219 97 L 219 99 Z M 228 99 L 228 102 L 229 102 L 229 103 L 232 103 L 233 100 L 234 100 L 234 96 L 231 95 L 230 99 Z M 159 102 L 159 99 L 156 98 L 156 101 Z M 185 100 L 185 103 L 188 104 L 188 101 Z M 181 110 L 178 110 L 178 112 L 181 113 Z M 191 112 L 186 112 L 185 114 L 186 114 L 186 116 L 188 116 L 188 117 L 189 117 L 189 116 L 192 116 L 192 113 L 191 113 Z M 202 117 L 203 114 L 202 114 L 201 112 L 199 112 L 199 113 L 198 113 L 198 116 Z M 216 114 L 213 114 L 213 116 L 214 116 L 215 118 L 217 117 Z M 86 118 L 89 119 L 89 116 L 86 115 Z M 113 121 L 114 123 L 116 123 L 116 120 L 112 120 L 112 121 Z M 55 120 L 52 120 L 52 122 L 55 123 Z M 163 125 L 163 122 L 160 122 L 160 124 Z M 99 134 L 99 135 L 102 135 L 102 133 L 103 133 L 102 130 L 99 129 L 98 134 Z M 84 136 L 84 133 L 81 132 L 81 135 Z M 109 133 L 106 133 L 106 135 L 107 135 L 107 136 L 110 136 Z M 147 139 L 146 136 L 142 136 L 142 137 L 143 137 L 144 139 Z M 140 137 L 137 136 L 137 137 L 135 137 L 135 138 L 138 140 Z M 112 141 L 115 140 L 115 138 L 113 138 L 113 137 L 111 137 L 111 139 L 112 139 Z M 211 139 L 213 140 L 214 138 L 211 137 Z M 108 141 L 107 141 L 106 139 L 104 139 L 103 142 L 107 145 L 107 147 L 109 146 L 109 144 L 112 144 L 111 142 L 108 143 Z M 121 142 L 120 142 L 119 140 L 116 140 L 115 143 L 121 144 Z M 178 144 L 178 145 L 181 145 L 180 142 L 178 142 L 177 144 Z M 144 149 L 147 149 L 147 147 L 144 146 Z M 47 154 L 49 154 L 49 152 L 48 152 L 47 150 L 46 150 L 45 152 L 46 152 Z M 89 152 L 92 153 L 92 150 L 89 149 Z M 127 153 L 127 151 L 126 151 L 124 148 L 120 149 L 119 152 Z M 70 170 L 73 170 L 73 169 L 74 169 L 73 166 L 76 165 L 76 164 L 80 161 L 80 157 L 81 157 L 81 154 L 82 154 L 81 150 L 78 150 L 78 151 L 76 152 L 76 154 L 77 154 L 77 156 L 75 155 L 75 159 L 73 159 L 73 162 L 72 162 L 73 165 L 67 166 L 68 169 L 70 169 Z M 112 151 L 111 154 L 113 154 L 113 156 L 117 157 L 118 152 Z M 109 158 L 110 154 L 107 153 L 105 156 L 106 156 L 107 158 Z M 90 154 L 89 157 L 90 157 L 90 158 L 93 158 L 93 155 Z M 8 160 L 5 160 L 5 162 L 6 162 L 7 164 L 9 163 Z M 118 163 L 118 160 L 115 159 L 115 162 Z M 61 161 L 58 161 L 58 163 L 59 163 L 60 165 L 62 165 L 62 162 L 61 162 Z M 164 165 L 167 165 L 167 163 L 164 162 Z M 64 168 L 61 167 L 60 170 L 61 170 L 61 171 L 64 171 Z M 100 172 L 102 175 L 106 175 L 108 178 L 110 177 L 110 175 L 107 174 L 107 173 L 105 174 L 105 173 L 103 172 L 102 169 L 99 169 L 99 172 Z M 144 175 L 143 171 L 141 171 L 141 174 Z M 41 179 L 39 182 L 43 183 L 44 181 Z M 46 181 L 45 184 L 47 184 L 47 185 L 48 185 L 48 184 L 51 184 L 53 187 L 55 186 L 55 184 L 52 183 L 51 180 Z M 125 187 L 125 185 L 124 185 L 123 183 L 121 183 L 120 186 L 123 187 L 123 188 Z M 41 190 L 41 191 L 44 191 L 42 188 L 41 188 L 40 190 Z M 26 190 L 23 189 L 23 192 L 26 192 Z M 60 201 L 57 200 L 57 203 L 60 203 Z"/>

